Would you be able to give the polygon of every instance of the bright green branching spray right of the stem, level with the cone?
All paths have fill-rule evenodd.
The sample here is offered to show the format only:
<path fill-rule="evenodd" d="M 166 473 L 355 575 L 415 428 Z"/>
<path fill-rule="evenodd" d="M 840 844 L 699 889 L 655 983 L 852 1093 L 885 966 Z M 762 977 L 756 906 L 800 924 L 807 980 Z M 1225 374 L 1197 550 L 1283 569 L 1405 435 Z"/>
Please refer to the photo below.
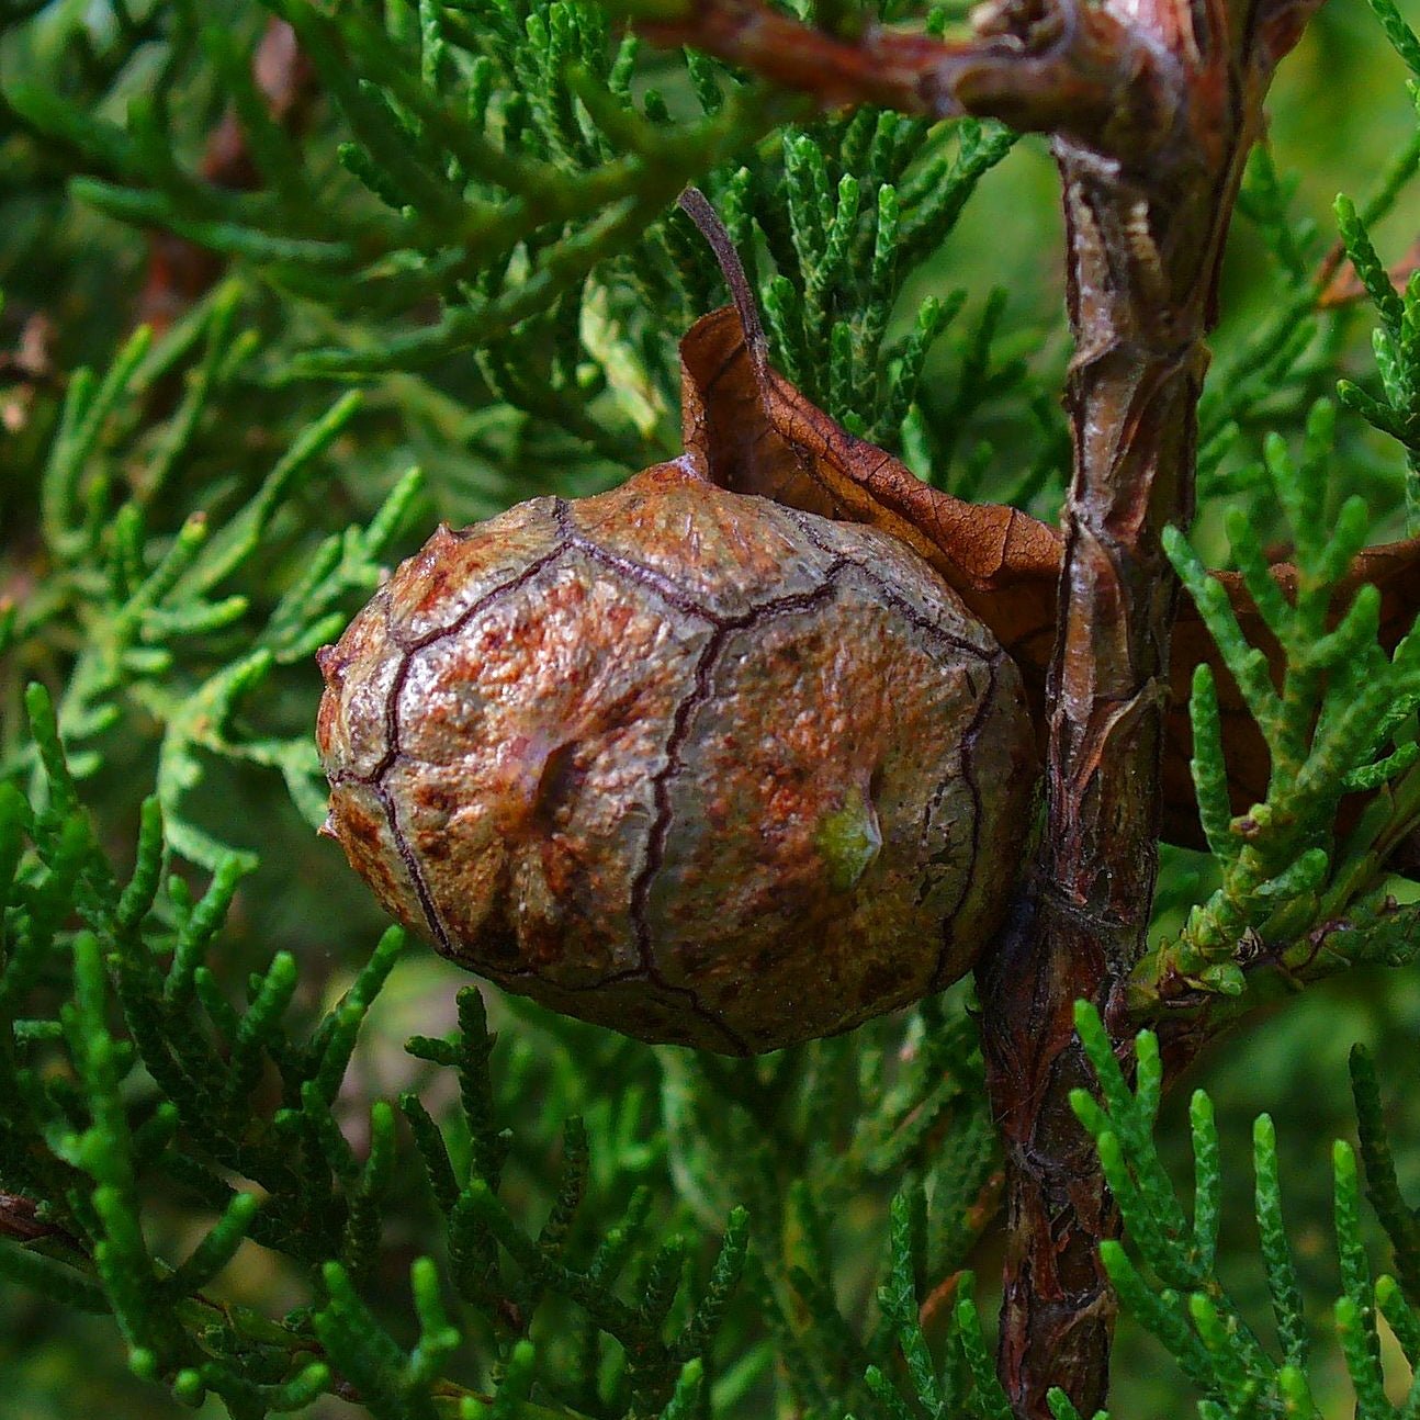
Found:
<path fill-rule="evenodd" d="M 1257 974 L 1275 984 L 1278 973 L 1311 978 L 1362 960 L 1399 964 L 1420 950 L 1414 909 L 1396 907 L 1383 890 L 1390 852 L 1420 814 L 1420 642 L 1411 635 L 1384 649 L 1373 585 L 1338 605 L 1336 585 L 1366 544 L 1369 514 L 1353 496 L 1326 527 L 1333 419 L 1332 406 L 1314 406 L 1299 459 L 1279 436 L 1267 442 L 1265 467 L 1295 542 L 1295 586 L 1274 578 L 1248 514 L 1227 514 L 1233 555 L 1260 613 L 1252 639 L 1187 540 L 1176 530 L 1164 538 L 1261 734 L 1269 774 L 1262 802 L 1234 815 L 1218 687 L 1200 666 L 1190 703 L 1193 781 L 1221 883 L 1190 910 L 1179 937 L 1140 966 L 1142 1003 L 1150 991 L 1190 987 L 1241 997 L 1250 968 L 1267 968 Z M 1281 649 L 1281 683 L 1257 645 L 1262 636 Z M 1340 802 L 1358 791 L 1376 797 L 1345 831 Z"/>

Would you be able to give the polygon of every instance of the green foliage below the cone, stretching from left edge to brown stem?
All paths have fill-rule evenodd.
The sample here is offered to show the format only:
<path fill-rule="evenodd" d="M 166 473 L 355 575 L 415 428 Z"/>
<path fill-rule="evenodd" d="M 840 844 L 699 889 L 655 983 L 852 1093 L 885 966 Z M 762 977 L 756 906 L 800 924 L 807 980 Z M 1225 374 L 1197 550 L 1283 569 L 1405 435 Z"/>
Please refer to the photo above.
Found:
<path fill-rule="evenodd" d="M 951 1200 L 978 1194 L 994 1166 L 976 1105 L 980 1062 L 960 1027 L 924 1010 L 914 1059 L 896 1071 L 872 1051 L 829 1045 L 781 1056 L 770 1071 L 665 1061 L 669 1157 L 657 1163 L 701 1179 L 692 1214 L 710 1225 L 726 1186 L 761 1210 L 758 1227 L 743 1208 L 719 1214 L 713 1250 L 684 1234 L 657 1241 L 648 1231 L 650 1190 L 633 1186 L 649 1163 L 645 1146 L 628 1140 L 619 1163 L 596 1177 L 578 1116 L 564 1125 L 561 1176 L 531 1228 L 503 1197 L 517 1146 L 500 1125 L 507 1100 L 490 1075 L 496 1037 L 479 991 L 460 993 L 452 1035 L 406 1045 L 454 1076 L 453 1118 L 440 1123 L 410 1091 L 399 1098 L 400 1129 L 392 1103 L 372 1100 L 356 1150 L 342 1082 L 403 953 L 402 933 L 388 932 L 308 1027 L 293 1021 L 298 973 L 287 953 L 234 1003 L 212 963 L 237 861 L 226 859 L 193 900 L 172 873 L 151 798 L 121 882 L 80 802 L 47 694 L 34 687 L 27 701 L 40 792 L 31 802 L 6 787 L 0 797 L 0 1074 L 10 1100 L 0 1190 L 7 1221 L 21 1216 L 38 1241 L 0 1242 L 0 1277 L 112 1315 L 138 1376 L 189 1403 L 210 1390 L 239 1417 L 300 1410 L 322 1393 L 358 1396 L 381 1417 L 701 1413 L 711 1348 L 741 1287 L 753 1287 L 790 1365 L 790 1389 L 814 1413 L 831 1414 L 861 1387 L 870 1406 L 862 1414 L 902 1414 L 889 1379 L 897 1346 L 913 1386 L 930 1387 L 933 1413 L 954 1413 L 970 1372 L 957 1363 L 937 1375 L 914 1298 L 922 1278 L 950 1274 L 976 1241 L 980 1223 Z M 81 924 L 68 926 L 75 909 Z M 57 1011 L 43 1014 L 45 1001 Z M 599 1034 L 558 1030 L 572 1059 Z M 520 1056 L 520 1089 L 545 1048 Z M 787 1089 L 791 1071 L 799 1078 Z M 852 1133 L 826 1137 L 814 1120 L 845 1091 L 858 1102 L 841 1112 Z M 625 1103 L 635 1123 L 645 1098 Z M 692 1123 L 687 1106 L 713 1109 L 719 1122 L 701 1115 Z M 755 1118 L 774 1133 L 754 1133 Z M 625 1129 L 613 1123 L 612 1137 Z M 939 1160 L 941 1137 L 956 1143 Z M 795 1150 L 822 1153 L 812 1184 L 790 1177 Z M 409 1345 L 361 1288 L 389 1271 L 386 1211 L 413 1172 L 427 1189 L 426 1230 L 437 1220 L 442 1265 L 430 1257 L 409 1265 L 402 1292 L 417 1321 Z M 859 1338 L 835 1299 L 825 1218 L 846 1200 L 882 1197 L 905 1172 L 922 1181 L 892 1207 L 879 1319 Z M 151 1241 L 160 1231 L 153 1200 L 172 1197 L 213 1218 L 180 1254 Z M 595 1241 L 579 1227 L 586 1206 L 608 1223 Z M 307 1301 L 266 1315 L 216 1299 L 213 1285 L 248 1242 L 280 1258 Z M 548 1312 L 561 1323 L 540 1340 L 537 1319 Z M 980 1370 L 985 1352 L 970 1304 L 963 1318 L 964 1353 Z M 741 1309 L 740 1328 L 744 1321 Z M 753 1384 L 765 1345 L 760 1338 L 719 1376 L 723 1394 Z M 473 1376 L 453 1379 L 450 1367 Z"/>

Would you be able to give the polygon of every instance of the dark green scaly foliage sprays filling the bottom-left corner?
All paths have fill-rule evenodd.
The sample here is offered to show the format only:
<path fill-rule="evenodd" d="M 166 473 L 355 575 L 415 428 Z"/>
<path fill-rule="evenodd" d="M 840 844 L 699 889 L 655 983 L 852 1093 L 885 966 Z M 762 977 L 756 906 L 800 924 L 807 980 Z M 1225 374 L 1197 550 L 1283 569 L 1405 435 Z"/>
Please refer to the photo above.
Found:
<path fill-rule="evenodd" d="M 11 1100 L 0 1189 L 7 1208 L 24 1200 L 40 1245 L 0 1244 L 0 1275 L 111 1315 L 135 1375 L 189 1404 L 213 1392 L 239 1417 L 301 1410 L 327 1392 L 400 1420 L 686 1413 L 744 1271 L 744 1213 L 730 1214 L 703 1285 L 684 1241 L 638 1238 L 640 1194 L 623 1225 L 582 1255 L 571 1230 L 589 1156 L 585 1125 L 572 1118 L 551 1213 L 538 1231 L 525 1228 L 500 1197 L 511 1139 L 496 1125 L 494 1039 L 470 987 L 453 1038 L 408 1047 L 456 1078 L 462 1105 L 440 1129 L 417 1093 L 400 1099 L 443 1217 L 446 1271 L 429 1257 L 409 1265 L 417 1335 L 412 1345 L 396 1339 L 356 1284 L 376 1264 L 386 1204 L 409 1167 L 389 1102 L 369 1106 L 364 1156 L 337 1103 L 403 934 L 385 933 L 308 1028 L 290 1020 L 298 973 L 288 953 L 233 1003 L 209 964 L 233 861 L 192 902 L 170 875 L 162 808 L 151 798 L 132 875 L 121 882 L 80 804 L 48 696 L 37 686 L 27 701 L 43 792 L 31 802 L 7 785 L 0 798 L 0 1079 Z M 67 930 L 75 910 L 81 926 Z M 36 995 L 57 1010 L 24 1014 Z M 152 1200 L 172 1189 L 213 1220 L 180 1251 L 149 1238 Z M 284 1315 L 207 1295 L 248 1242 L 301 1279 L 304 1301 Z M 636 1284 L 623 1295 L 628 1275 Z M 446 1289 L 460 1302 L 457 1322 Z M 528 1331 L 554 1299 L 585 1318 L 578 1365 L 559 1355 L 542 1380 L 559 1407 L 530 1409 L 540 1348 Z M 491 1400 L 446 1373 L 470 1332 L 497 1358 Z M 606 1345 L 616 1348 L 609 1369 Z"/>

